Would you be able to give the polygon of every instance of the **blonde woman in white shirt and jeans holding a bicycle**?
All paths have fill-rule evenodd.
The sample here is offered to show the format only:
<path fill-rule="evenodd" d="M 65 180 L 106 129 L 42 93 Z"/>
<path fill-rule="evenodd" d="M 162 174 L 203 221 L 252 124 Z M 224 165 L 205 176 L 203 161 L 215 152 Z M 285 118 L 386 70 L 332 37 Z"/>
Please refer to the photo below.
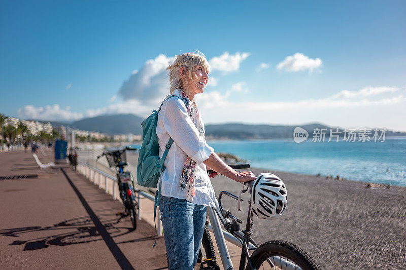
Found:
<path fill-rule="evenodd" d="M 214 153 L 205 140 L 205 126 L 194 97 L 204 92 L 209 63 L 202 54 L 176 56 L 167 67 L 171 94 L 158 113 L 159 155 L 174 140 L 162 173 L 159 210 L 170 269 L 193 269 L 206 222 L 206 206 L 215 207 L 207 167 L 237 182 L 255 180 L 252 172 L 238 173 Z M 216 176 L 217 173 L 210 177 Z"/>

